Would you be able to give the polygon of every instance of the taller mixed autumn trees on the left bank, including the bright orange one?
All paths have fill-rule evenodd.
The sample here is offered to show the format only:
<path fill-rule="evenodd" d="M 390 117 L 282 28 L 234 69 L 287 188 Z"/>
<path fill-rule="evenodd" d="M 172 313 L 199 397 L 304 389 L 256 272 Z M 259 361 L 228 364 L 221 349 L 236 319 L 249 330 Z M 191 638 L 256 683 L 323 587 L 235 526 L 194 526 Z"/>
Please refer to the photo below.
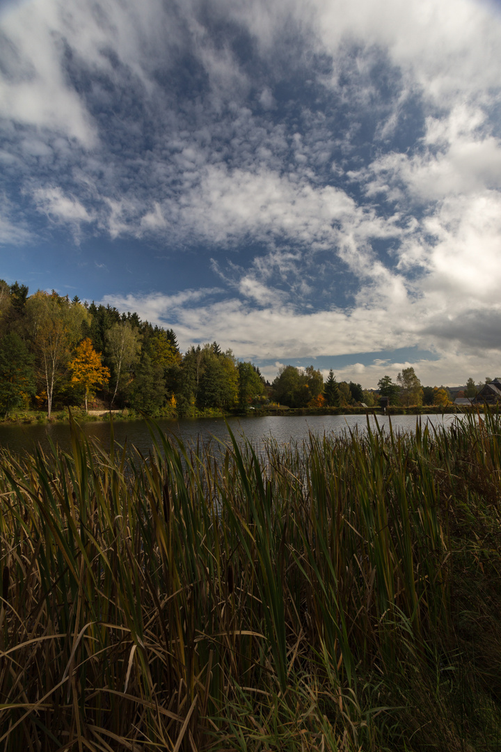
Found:
<path fill-rule="evenodd" d="M 172 329 L 81 302 L 54 290 L 29 296 L 0 280 L 0 413 L 14 408 L 86 406 L 98 393 L 110 408 L 146 414 L 195 414 L 258 404 L 259 369 L 219 345 L 182 355 Z"/>

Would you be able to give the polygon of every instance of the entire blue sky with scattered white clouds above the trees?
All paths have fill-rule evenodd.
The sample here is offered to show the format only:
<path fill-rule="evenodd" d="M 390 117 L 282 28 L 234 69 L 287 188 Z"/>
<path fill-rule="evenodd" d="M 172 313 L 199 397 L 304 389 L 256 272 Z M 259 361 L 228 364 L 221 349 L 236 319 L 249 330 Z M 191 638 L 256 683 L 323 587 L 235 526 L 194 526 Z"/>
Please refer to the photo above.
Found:
<path fill-rule="evenodd" d="M 273 379 L 501 374 L 501 2 L 0 0 L 0 277 Z"/>

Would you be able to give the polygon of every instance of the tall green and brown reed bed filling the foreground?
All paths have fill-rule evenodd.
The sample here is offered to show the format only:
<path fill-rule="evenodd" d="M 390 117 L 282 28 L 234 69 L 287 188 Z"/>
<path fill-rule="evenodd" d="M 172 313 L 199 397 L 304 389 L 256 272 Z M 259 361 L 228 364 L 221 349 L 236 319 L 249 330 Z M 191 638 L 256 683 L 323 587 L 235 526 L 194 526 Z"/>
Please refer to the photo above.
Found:
<path fill-rule="evenodd" d="M 501 750 L 501 419 L 0 458 L 0 748 Z"/>

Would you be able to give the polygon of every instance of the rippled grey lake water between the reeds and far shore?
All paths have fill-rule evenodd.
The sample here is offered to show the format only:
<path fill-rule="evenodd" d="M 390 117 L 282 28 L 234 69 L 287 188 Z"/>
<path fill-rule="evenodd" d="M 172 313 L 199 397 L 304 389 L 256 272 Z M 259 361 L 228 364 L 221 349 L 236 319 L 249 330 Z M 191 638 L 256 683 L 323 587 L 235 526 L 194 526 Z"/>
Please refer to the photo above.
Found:
<path fill-rule="evenodd" d="M 432 426 L 450 425 L 454 421 L 454 415 L 394 415 L 391 417 L 391 425 L 394 431 L 414 431 L 416 420 L 421 424 L 429 422 Z M 378 416 L 379 426 L 388 430 L 390 419 Z M 376 426 L 374 418 L 370 422 Z M 175 435 L 191 443 L 198 438 L 207 440 L 210 437 L 219 441 L 229 441 L 228 429 L 223 418 L 183 418 L 182 420 L 157 420 L 156 423 L 162 431 L 168 435 Z M 259 449 L 266 438 L 274 438 L 279 443 L 288 441 L 302 441 L 308 438 L 309 432 L 316 435 L 334 433 L 340 435 L 347 430 L 358 429 L 361 432 L 367 430 L 367 418 L 364 415 L 294 415 L 289 417 L 231 417 L 228 425 L 234 435 L 245 435 L 252 444 Z M 96 423 L 82 423 L 83 432 L 89 438 L 98 439 L 105 447 L 110 445 L 110 423 L 99 421 Z M 149 429 L 143 420 L 127 420 L 114 424 L 115 440 L 119 444 L 127 441 L 129 447 L 135 446 L 143 453 L 148 453 L 152 446 Z M 68 423 L 50 423 L 38 425 L 27 424 L 2 424 L 0 425 L 0 446 L 8 447 L 11 451 L 22 453 L 23 450 L 32 450 L 37 444 L 42 449 L 48 450 L 50 440 L 59 444 L 63 450 L 70 448 L 70 431 Z"/>

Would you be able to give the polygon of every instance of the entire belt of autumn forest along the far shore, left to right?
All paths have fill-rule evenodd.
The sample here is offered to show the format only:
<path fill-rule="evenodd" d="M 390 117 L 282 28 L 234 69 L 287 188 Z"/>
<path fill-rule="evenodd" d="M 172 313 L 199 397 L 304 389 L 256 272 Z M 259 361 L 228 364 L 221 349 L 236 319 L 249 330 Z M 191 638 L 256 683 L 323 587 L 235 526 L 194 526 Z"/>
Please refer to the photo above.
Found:
<path fill-rule="evenodd" d="M 472 379 L 468 389 L 475 394 Z M 172 417 L 270 404 L 375 407 L 381 396 L 391 405 L 451 402 L 445 388 L 421 387 L 412 367 L 403 368 L 396 383 L 382 378 L 378 391 L 337 382 L 332 370 L 324 382 L 313 365 L 285 365 L 269 384 L 257 366 L 223 351 L 216 341 L 181 353 L 173 329 L 142 321 L 135 312 L 120 313 L 78 296 L 70 300 L 55 290 L 29 296 L 26 285 L 0 280 L 1 417 L 31 409 L 50 418 L 68 406 Z"/>

